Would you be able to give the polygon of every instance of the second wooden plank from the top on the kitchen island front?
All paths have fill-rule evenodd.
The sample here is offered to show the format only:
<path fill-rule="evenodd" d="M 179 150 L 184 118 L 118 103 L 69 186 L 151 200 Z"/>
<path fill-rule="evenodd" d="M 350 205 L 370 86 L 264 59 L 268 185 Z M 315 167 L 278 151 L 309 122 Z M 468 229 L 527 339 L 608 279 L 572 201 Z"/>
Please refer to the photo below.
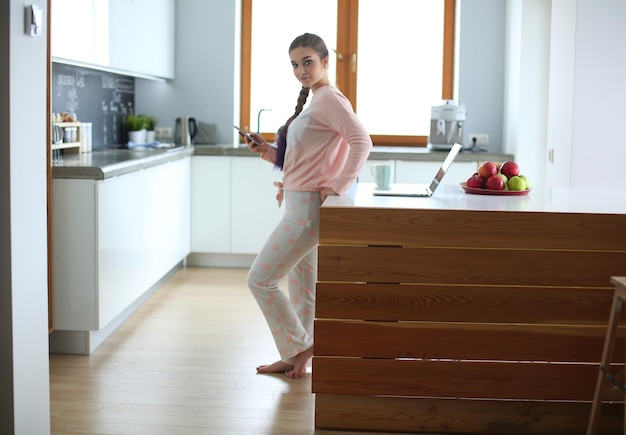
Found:
<path fill-rule="evenodd" d="M 612 287 L 624 275 L 626 251 L 319 247 L 319 281 Z"/>

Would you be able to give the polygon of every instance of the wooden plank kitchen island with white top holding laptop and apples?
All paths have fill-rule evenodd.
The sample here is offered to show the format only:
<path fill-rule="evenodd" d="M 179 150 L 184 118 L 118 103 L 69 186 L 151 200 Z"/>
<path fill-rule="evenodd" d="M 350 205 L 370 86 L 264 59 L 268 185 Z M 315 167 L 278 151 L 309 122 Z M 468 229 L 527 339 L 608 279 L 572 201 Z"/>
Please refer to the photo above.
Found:
<path fill-rule="evenodd" d="M 321 210 L 316 428 L 584 434 L 626 275 L 626 190 L 372 189 Z M 624 394 L 609 399 L 598 433 L 621 434 Z"/>

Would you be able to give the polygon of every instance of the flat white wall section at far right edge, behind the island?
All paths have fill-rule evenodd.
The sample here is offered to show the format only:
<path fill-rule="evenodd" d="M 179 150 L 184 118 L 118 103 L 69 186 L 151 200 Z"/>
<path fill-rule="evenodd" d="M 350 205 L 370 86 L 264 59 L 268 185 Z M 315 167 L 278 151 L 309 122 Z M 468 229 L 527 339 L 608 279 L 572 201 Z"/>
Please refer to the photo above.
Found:
<path fill-rule="evenodd" d="M 625 18 L 624 0 L 577 0 L 571 186 L 624 184 Z"/>

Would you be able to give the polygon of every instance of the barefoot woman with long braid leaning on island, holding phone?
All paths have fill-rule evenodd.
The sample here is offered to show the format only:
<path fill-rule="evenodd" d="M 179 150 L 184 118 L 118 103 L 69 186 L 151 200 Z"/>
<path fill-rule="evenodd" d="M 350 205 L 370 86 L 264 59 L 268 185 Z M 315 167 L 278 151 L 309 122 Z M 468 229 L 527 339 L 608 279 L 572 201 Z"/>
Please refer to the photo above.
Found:
<path fill-rule="evenodd" d="M 278 131 L 276 147 L 257 135 L 253 152 L 283 170 L 277 199 L 285 214 L 248 273 L 248 287 L 261 307 L 281 359 L 258 373 L 285 372 L 299 378 L 313 356 L 319 208 L 329 195 L 341 195 L 355 182 L 372 141 L 350 102 L 328 79 L 328 49 L 305 33 L 289 47 L 302 84 L 295 113 Z M 309 92 L 313 97 L 303 111 Z M 287 277 L 289 297 L 279 287 Z"/>

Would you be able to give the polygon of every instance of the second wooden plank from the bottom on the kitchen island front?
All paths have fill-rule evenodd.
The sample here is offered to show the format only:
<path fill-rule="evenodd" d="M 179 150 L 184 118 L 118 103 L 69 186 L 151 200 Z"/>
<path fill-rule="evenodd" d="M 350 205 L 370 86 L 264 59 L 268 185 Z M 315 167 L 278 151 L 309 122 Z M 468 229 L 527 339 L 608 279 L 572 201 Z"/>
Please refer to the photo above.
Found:
<path fill-rule="evenodd" d="M 591 402 L 598 367 L 318 357 L 313 373 L 315 394 Z"/>

